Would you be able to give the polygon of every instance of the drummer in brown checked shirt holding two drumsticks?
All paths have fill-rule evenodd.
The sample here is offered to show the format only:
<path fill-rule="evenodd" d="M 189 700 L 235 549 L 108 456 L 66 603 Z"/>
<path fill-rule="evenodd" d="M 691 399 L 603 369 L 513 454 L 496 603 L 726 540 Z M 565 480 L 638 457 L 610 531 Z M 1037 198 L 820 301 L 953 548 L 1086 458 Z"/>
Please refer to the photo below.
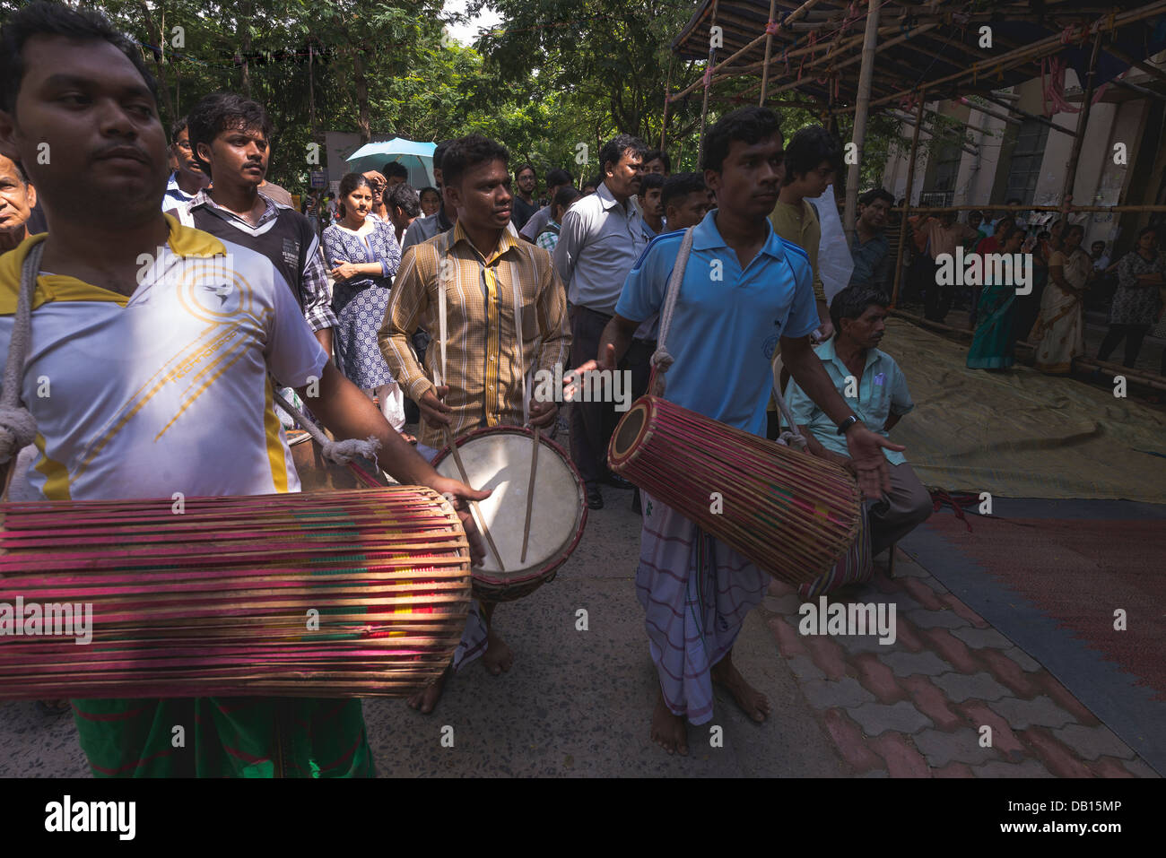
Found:
<path fill-rule="evenodd" d="M 442 156 L 451 230 L 405 251 L 380 328 L 380 350 L 398 384 L 421 409 L 417 452 L 431 459 L 455 437 L 482 427 L 522 423 L 522 375 L 554 373 L 570 354 L 567 296 L 541 247 L 508 230 L 513 196 L 506 149 L 482 135 L 455 140 Z M 447 366 L 441 363 L 438 289 L 445 294 Z M 521 318 L 515 318 L 515 289 Z M 435 339 L 422 368 L 409 347 L 421 324 Z M 437 370 L 444 382 L 434 385 Z M 532 401 L 533 426 L 552 427 L 559 407 Z M 508 670 L 510 647 L 494 632 L 491 604 L 473 602 L 451 670 L 482 655 L 493 675 Z M 449 673 L 447 673 L 447 676 Z M 431 712 L 444 677 L 409 701 Z"/>

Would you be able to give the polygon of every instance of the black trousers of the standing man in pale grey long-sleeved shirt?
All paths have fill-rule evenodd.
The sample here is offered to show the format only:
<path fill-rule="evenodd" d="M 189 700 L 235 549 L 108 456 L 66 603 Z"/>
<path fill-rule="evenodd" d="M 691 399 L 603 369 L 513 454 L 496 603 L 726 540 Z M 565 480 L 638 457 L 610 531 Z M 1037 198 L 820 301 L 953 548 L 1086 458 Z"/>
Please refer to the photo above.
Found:
<path fill-rule="evenodd" d="M 586 307 L 571 308 L 571 366 L 595 360 L 599 353 L 599 339 L 611 316 Z M 632 400 L 647 391 L 652 373 L 652 352 L 655 343 L 637 339 L 627 350 L 618 370 L 631 373 Z M 611 399 L 610 396 L 606 399 Z M 623 413 L 616 410 L 616 402 L 583 402 L 571 405 L 571 460 L 580 469 L 580 476 L 589 486 L 607 476 L 607 443 Z"/>

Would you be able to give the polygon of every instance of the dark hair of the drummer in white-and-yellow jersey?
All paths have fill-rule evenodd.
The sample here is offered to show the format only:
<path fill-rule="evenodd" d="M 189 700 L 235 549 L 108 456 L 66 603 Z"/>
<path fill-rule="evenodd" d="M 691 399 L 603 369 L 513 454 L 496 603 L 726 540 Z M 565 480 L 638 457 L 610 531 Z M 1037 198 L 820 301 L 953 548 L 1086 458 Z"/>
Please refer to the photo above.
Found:
<path fill-rule="evenodd" d="M 34 2 L 14 13 L 0 28 L 0 110 L 16 111 L 16 96 L 24 78 L 24 58 L 21 56 L 29 38 L 35 36 L 64 36 L 85 42 L 105 41 L 126 55 L 134 64 L 154 101 L 157 103 L 157 82 L 146 68 L 138 45 L 119 33 L 108 19 L 91 9 L 71 9 L 64 3 Z"/>

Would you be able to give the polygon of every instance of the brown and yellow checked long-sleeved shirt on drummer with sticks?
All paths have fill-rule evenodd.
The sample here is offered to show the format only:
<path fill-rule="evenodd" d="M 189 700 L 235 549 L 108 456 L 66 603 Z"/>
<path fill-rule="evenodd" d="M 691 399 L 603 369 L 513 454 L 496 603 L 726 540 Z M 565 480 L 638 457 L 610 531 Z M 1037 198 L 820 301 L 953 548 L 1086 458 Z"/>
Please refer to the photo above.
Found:
<path fill-rule="evenodd" d="M 448 259 L 445 289 L 445 373 L 441 371 L 437 289 Z M 434 387 L 434 371 L 449 385 L 445 405 L 452 409 L 455 437 L 482 427 L 522 423 L 522 381 L 514 289 L 520 295 L 521 367 L 528 385 L 534 373 L 555 365 L 566 372 L 570 354 L 567 295 L 549 254 L 521 241 L 508 230 L 497 247 L 483 255 L 461 224 L 405 251 L 379 332 L 381 354 L 413 400 Z M 417 364 L 409 337 L 423 326 L 433 336 L 426 366 Z M 440 427 L 421 419 L 419 441 L 445 444 Z"/>

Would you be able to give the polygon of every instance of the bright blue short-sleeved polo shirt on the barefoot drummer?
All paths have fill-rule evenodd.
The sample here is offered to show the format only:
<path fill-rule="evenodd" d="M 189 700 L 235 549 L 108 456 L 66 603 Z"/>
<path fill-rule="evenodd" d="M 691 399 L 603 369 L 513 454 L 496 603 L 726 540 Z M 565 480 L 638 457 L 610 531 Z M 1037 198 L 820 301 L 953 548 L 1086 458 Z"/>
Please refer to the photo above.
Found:
<path fill-rule="evenodd" d="M 716 210 L 693 232 L 693 252 L 668 331 L 676 363 L 665 396 L 714 420 L 765 436 L 771 360 L 781 337 L 805 337 L 820 322 L 809 258 L 768 238 L 745 269 L 717 230 Z M 616 312 L 642 321 L 663 310 L 682 231 L 652 239 L 624 282 Z"/>

